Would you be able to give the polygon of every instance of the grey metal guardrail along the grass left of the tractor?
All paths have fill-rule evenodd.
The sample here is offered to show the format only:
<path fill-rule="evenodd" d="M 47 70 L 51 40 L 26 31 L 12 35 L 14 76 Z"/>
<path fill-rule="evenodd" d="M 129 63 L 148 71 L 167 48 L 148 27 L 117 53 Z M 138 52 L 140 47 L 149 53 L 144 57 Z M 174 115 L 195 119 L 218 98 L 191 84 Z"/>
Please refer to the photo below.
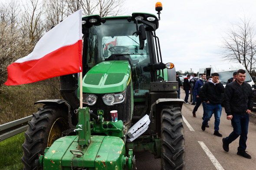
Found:
<path fill-rule="evenodd" d="M 0 141 L 26 131 L 29 126 L 28 121 L 30 121 L 32 118 L 33 115 L 30 115 L 25 118 L 0 125 Z"/>

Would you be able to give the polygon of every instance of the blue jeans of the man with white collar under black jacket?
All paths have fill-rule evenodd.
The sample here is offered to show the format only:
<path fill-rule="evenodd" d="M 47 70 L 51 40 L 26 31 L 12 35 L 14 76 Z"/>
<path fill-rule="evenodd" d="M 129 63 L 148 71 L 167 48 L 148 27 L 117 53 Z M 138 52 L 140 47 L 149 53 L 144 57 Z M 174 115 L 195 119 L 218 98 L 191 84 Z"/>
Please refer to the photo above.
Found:
<path fill-rule="evenodd" d="M 219 131 L 220 115 L 221 115 L 222 107 L 221 105 L 213 105 L 211 103 L 206 103 L 206 105 L 207 105 L 206 106 L 207 114 L 203 120 L 203 124 L 207 125 L 209 119 L 212 117 L 214 113 L 214 118 L 215 118 L 214 130 Z"/>

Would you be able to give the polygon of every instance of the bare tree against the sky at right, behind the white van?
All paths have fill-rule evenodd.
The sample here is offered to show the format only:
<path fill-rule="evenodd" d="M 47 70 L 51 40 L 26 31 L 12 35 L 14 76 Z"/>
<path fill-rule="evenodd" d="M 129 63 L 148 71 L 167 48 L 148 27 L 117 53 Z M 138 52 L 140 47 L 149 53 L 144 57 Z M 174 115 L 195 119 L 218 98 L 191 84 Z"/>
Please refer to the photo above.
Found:
<path fill-rule="evenodd" d="M 226 37 L 223 37 L 223 45 L 221 46 L 223 59 L 241 63 L 251 73 L 253 64 L 256 62 L 254 23 L 244 16 L 240 18 L 240 22 L 232 23 L 225 33 Z"/>

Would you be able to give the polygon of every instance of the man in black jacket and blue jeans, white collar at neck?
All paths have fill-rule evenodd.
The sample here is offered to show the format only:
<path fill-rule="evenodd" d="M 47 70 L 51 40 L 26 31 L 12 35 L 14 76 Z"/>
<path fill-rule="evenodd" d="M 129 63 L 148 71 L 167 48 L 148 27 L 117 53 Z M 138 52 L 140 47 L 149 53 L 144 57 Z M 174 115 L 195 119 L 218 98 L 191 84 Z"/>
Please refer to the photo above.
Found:
<path fill-rule="evenodd" d="M 209 79 L 207 83 L 203 85 L 200 90 L 200 97 L 207 105 L 207 115 L 205 116 L 202 123 L 202 130 L 205 131 L 205 127 L 214 113 L 214 133 L 213 135 L 221 137 L 219 133 L 220 115 L 222 111 L 221 107 L 221 93 L 224 93 L 225 88 L 220 83 L 219 74 L 213 73 L 213 78 Z"/>

